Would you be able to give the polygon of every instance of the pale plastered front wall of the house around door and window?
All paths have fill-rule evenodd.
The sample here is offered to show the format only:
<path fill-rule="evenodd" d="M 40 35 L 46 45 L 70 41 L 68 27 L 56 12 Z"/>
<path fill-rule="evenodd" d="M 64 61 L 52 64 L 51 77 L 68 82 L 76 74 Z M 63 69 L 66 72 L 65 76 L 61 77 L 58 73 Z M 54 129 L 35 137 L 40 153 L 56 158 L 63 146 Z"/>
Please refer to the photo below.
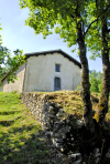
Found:
<path fill-rule="evenodd" d="M 55 72 L 55 64 L 61 72 Z M 28 59 L 24 92 L 54 91 L 54 79 L 61 78 L 61 90 L 75 90 L 80 84 L 80 69 L 59 53 L 30 57 Z"/>

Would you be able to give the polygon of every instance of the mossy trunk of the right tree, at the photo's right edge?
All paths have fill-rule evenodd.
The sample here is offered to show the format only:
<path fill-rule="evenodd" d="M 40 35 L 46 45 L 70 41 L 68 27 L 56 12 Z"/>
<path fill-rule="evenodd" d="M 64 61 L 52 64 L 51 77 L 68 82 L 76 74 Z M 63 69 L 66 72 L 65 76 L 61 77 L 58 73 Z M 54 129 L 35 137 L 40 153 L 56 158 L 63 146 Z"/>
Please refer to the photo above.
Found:
<path fill-rule="evenodd" d="M 102 22 L 102 65 L 103 65 L 103 75 L 102 75 L 102 90 L 100 94 L 99 104 L 97 106 L 97 113 L 95 119 L 100 125 L 103 125 L 105 117 L 108 112 L 108 101 L 109 101 L 109 48 L 108 48 L 108 28 L 107 21 L 101 19 Z"/>

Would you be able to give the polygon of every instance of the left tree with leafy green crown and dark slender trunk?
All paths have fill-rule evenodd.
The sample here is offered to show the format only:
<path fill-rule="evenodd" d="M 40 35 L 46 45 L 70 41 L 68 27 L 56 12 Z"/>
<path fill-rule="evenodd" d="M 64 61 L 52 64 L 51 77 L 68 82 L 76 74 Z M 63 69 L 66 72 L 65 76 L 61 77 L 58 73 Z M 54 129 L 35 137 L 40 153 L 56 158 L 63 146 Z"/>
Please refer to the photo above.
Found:
<path fill-rule="evenodd" d="M 42 32 L 45 39 L 48 34 L 52 34 L 51 29 L 55 28 L 55 32 L 59 33 L 65 42 L 68 42 L 68 47 L 78 44 L 82 69 L 81 98 L 84 102 L 84 123 L 87 129 L 94 131 L 92 105 L 89 91 L 89 68 L 86 50 L 87 44 L 90 45 L 90 35 L 92 35 L 90 28 L 94 24 L 97 27 L 100 24 L 99 20 L 108 11 L 109 6 L 100 11 L 97 11 L 97 0 L 82 0 L 81 3 L 79 0 L 20 0 L 20 6 L 21 8 L 28 7 L 30 9 L 30 17 L 25 21 L 25 24 L 33 28 L 35 34 Z"/>

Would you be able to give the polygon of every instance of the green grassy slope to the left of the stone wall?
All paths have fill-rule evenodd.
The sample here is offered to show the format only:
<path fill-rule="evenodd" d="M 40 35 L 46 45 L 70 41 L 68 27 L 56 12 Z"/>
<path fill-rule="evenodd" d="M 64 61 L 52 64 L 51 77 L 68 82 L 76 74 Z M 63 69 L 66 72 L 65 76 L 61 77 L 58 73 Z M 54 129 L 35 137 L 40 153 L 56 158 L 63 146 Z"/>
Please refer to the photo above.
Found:
<path fill-rule="evenodd" d="M 47 158 L 42 127 L 20 94 L 0 92 L 0 164 L 37 163 Z"/>

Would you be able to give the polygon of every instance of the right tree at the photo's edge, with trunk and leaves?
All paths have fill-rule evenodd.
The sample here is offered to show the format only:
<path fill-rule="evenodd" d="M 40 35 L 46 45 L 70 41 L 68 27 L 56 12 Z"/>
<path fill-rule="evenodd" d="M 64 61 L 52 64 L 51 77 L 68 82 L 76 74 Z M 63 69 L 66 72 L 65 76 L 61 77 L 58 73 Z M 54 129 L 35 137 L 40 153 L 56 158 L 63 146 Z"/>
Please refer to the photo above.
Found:
<path fill-rule="evenodd" d="M 96 10 L 96 12 L 95 12 Z M 109 35 L 109 27 L 110 27 L 110 1 L 109 0 L 96 0 L 96 9 L 94 12 L 96 13 L 96 18 L 98 21 L 94 24 L 94 39 L 89 42 L 89 49 L 94 52 L 91 59 L 96 59 L 96 57 L 101 57 L 102 65 L 103 65 L 103 75 L 102 75 L 102 89 L 100 94 L 99 104 L 97 106 L 97 113 L 95 119 L 97 122 L 102 125 L 105 123 L 105 117 L 108 112 L 108 101 L 109 101 L 109 45 L 110 45 L 110 35 Z M 100 14 L 105 13 L 105 14 Z M 92 29 L 91 29 L 92 30 Z M 89 30 L 89 32 L 92 32 Z M 95 35 L 96 34 L 96 35 Z M 94 43 L 94 45 L 91 45 Z M 96 49 L 97 48 L 97 49 Z M 96 55 L 95 55 L 96 53 Z"/>

